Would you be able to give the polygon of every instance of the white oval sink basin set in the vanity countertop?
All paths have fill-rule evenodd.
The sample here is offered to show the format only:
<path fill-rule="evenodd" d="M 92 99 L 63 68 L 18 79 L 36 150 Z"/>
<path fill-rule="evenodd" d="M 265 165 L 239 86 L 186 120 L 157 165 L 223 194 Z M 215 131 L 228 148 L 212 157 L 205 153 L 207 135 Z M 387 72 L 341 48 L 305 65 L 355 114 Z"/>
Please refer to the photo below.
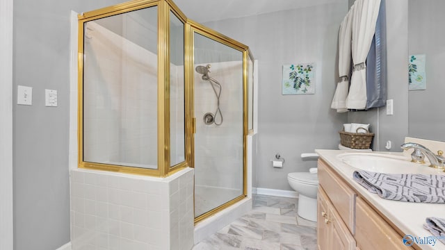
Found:
<path fill-rule="evenodd" d="M 406 156 L 385 153 L 341 153 L 337 158 L 350 167 L 369 172 L 387 174 L 438 174 L 442 172 L 428 167 L 428 164 L 412 163 Z"/>

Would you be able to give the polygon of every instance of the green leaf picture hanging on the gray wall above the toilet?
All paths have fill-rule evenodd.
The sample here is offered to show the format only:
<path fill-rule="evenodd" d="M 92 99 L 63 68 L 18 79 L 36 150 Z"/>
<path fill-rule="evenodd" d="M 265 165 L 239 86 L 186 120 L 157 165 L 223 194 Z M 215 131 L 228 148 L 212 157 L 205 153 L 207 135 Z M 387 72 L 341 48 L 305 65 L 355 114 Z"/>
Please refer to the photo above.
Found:
<path fill-rule="evenodd" d="M 315 94 L 315 63 L 283 65 L 282 94 Z"/>

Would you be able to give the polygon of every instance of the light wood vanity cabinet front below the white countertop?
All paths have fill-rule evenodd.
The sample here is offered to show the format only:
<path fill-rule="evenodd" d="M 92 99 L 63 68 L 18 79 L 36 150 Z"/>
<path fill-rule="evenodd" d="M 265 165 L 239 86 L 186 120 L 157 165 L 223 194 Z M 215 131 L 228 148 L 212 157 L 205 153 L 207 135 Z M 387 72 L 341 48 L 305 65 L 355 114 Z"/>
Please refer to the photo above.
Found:
<path fill-rule="evenodd" d="M 413 249 L 323 160 L 318 160 L 317 244 L 332 249 Z"/>

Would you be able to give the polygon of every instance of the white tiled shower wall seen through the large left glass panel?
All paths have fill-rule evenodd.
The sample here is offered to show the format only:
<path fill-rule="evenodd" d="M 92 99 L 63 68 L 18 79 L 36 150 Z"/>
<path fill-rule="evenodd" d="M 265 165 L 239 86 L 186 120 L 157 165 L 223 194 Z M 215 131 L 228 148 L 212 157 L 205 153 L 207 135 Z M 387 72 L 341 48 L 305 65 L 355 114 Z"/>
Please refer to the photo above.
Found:
<path fill-rule="evenodd" d="M 157 56 L 95 22 L 87 28 L 84 156 L 155 168 Z"/>

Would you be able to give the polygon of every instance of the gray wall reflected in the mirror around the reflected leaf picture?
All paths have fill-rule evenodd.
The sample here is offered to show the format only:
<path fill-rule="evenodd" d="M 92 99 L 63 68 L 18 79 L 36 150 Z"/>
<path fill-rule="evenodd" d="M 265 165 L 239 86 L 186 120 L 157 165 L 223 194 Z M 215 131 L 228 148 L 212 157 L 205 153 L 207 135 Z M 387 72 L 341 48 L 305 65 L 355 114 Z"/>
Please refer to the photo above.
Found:
<path fill-rule="evenodd" d="M 443 115 L 445 1 L 410 0 L 409 53 L 426 55 L 426 90 L 409 91 L 409 134 L 412 137 L 445 142 Z M 438 32 L 439 31 L 439 32 Z"/>

